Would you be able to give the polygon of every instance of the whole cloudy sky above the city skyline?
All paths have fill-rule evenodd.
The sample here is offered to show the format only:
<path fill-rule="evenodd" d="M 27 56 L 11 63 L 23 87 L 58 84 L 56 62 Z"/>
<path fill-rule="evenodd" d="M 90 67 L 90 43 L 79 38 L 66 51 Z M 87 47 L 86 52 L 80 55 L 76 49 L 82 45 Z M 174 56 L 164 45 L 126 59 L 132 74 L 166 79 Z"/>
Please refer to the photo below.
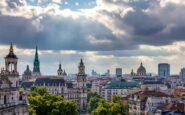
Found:
<path fill-rule="evenodd" d="M 16 46 L 19 72 L 33 67 L 39 48 L 42 74 L 56 74 L 58 63 L 76 73 L 80 58 L 86 71 L 147 72 L 171 64 L 185 66 L 185 0 L 1 0 L 0 66 L 9 44 Z"/>

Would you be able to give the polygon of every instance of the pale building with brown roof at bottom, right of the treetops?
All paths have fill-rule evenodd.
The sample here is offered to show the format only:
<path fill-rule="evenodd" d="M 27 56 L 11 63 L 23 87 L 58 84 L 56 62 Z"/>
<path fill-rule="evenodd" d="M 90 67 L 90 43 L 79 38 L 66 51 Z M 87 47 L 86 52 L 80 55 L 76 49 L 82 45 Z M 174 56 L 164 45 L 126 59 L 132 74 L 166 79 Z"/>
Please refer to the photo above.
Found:
<path fill-rule="evenodd" d="M 153 115 L 153 114 L 147 114 L 146 111 L 153 112 L 153 109 L 157 105 L 160 105 L 159 100 L 163 98 L 167 99 L 168 95 L 158 91 L 136 92 L 132 94 L 129 98 L 129 115 Z M 155 100 L 157 100 L 157 102 L 155 102 Z"/>

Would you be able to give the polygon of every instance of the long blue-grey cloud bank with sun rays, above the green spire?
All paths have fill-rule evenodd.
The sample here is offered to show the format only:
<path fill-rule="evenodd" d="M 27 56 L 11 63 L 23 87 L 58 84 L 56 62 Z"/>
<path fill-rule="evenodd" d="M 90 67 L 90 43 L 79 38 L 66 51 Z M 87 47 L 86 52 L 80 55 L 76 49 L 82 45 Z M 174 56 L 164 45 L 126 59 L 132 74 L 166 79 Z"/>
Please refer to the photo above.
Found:
<path fill-rule="evenodd" d="M 0 16 L 0 43 L 13 42 L 20 48 L 33 48 L 37 44 L 43 50 L 113 50 L 127 48 L 126 44 L 116 42 L 116 37 L 103 24 L 86 18 L 42 16 L 42 30 L 38 30 L 31 19 L 23 17 Z M 108 40 L 109 43 L 91 43 Z M 93 42 L 93 41 L 92 41 Z"/>

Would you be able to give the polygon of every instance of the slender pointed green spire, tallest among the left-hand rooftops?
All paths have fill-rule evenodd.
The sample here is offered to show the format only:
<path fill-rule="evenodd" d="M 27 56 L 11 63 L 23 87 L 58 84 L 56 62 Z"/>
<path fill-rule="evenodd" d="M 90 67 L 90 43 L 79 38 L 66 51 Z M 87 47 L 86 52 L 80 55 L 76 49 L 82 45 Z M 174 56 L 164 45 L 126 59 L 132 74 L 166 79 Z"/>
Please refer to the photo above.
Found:
<path fill-rule="evenodd" d="M 34 64 L 33 64 L 33 72 L 40 74 L 40 62 L 39 62 L 37 46 L 36 46 L 36 50 L 35 50 L 35 59 L 34 59 Z"/>

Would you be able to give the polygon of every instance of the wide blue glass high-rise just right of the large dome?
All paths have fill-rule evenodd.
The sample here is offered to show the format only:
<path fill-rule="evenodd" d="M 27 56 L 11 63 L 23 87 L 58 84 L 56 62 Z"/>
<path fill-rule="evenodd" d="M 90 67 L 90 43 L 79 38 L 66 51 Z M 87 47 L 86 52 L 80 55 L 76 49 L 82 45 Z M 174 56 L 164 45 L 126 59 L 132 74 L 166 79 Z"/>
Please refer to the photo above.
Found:
<path fill-rule="evenodd" d="M 167 77 L 170 75 L 170 64 L 160 63 L 158 64 L 158 76 Z"/>

